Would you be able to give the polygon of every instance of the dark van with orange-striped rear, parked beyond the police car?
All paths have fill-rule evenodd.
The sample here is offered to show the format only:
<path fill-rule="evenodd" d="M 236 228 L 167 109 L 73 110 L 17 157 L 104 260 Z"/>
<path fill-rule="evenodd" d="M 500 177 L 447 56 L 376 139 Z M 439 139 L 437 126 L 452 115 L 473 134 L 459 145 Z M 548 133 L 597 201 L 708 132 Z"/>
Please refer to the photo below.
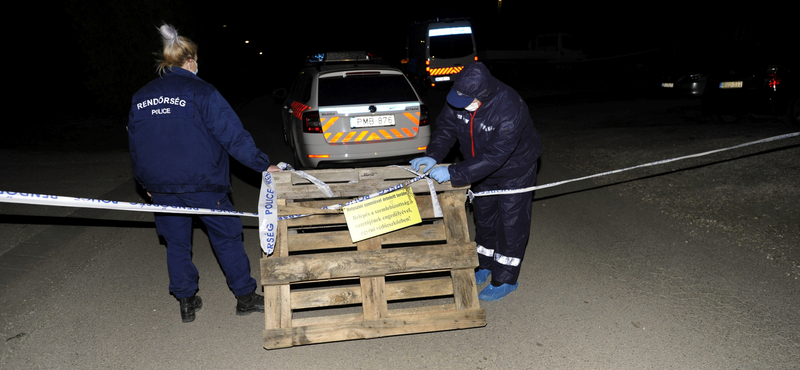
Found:
<path fill-rule="evenodd" d="M 436 19 L 411 25 L 403 66 L 417 86 L 451 83 L 455 75 L 478 60 L 478 49 L 467 18 Z"/>

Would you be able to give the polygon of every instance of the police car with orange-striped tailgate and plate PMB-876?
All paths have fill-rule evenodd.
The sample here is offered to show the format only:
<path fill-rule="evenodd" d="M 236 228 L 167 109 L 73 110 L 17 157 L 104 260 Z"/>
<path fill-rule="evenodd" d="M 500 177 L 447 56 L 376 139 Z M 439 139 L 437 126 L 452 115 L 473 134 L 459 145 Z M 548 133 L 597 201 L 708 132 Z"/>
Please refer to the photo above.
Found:
<path fill-rule="evenodd" d="M 299 168 L 408 163 L 430 140 L 428 108 L 403 72 L 366 52 L 309 57 L 282 116 Z"/>

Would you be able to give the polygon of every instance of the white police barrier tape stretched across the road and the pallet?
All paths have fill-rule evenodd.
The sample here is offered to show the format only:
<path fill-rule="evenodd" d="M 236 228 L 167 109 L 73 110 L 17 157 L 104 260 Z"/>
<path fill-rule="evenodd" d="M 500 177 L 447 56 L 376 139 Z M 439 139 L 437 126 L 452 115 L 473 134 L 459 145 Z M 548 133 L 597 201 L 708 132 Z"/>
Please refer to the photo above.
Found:
<path fill-rule="evenodd" d="M 523 193 L 528 191 L 534 191 L 538 189 L 544 189 L 549 187 L 554 187 L 558 185 L 563 185 L 570 182 L 586 180 L 590 178 L 600 177 L 600 176 L 607 176 L 615 173 L 620 173 L 624 171 L 629 171 L 636 168 L 642 167 L 649 167 L 649 166 L 656 166 L 660 164 L 675 162 L 683 159 L 689 158 L 696 158 L 701 157 L 709 154 L 719 153 L 727 150 L 733 150 L 742 148 L 749 145 L 755 144 L 762 144 L 772 141 L 777 141 L 781 139 L 787 139 L 792 137 L 800 136 L 800 132 L 795 132 L 791 134 L 773 136 L 766 139 L 751 141 L 744 144 L 739 144 L 736 146 L 711 150 L 703 153 L 698 154 L 691 154 L 686 155 L 683 157 L 677 157 L 672 159 L 665 159 L 656 162 L 650 162 L 645 164 L 640 164 L 638 166 L 623 168 L 614 171 L 608 171 L 603 173 L 598 173 L 591 176 L 584 176 L 576 179 L 558 181 L 550 184 L 539 185 L 539 186 L 531 186 L 528 188 L 523 189 L 510 189 L 510 190 L 490 190 L 490 191 L 483 191 L 478 193 L 473 193 L 471 190 L 467 191 L 467 196 L 470 201 L 474 200 L 475 197 L 481 196 L 490 196 L 490 195 L 502 195 L 502 194 L 516 194 L 516 193 Z M 309 181 L 312 181 L 320 190 L 327 194 L 333 195 L 330 191 L 330 188 L 322 181 L 315 179 L 313 176 L 308 175 L 305 172 L 298 171 L 293 169 L 290 165 L 286 163 L 279 163 L 278 167 L 288 171 L 294 171 L 298 175 L 307 178 Z M 407 180 L 404 183 L 392 186 L 390 188 L 381 190 L 379 192 L 365 195 L 363 197 L 356 198 L 350 202 L 342 204 L 335 204 L 328 207 L 324 207 L 325 209 L 338 209 L 343 206 L 348 206 L 351 204 L 355 204 L 358 202 L 362 202 L 376 196 L 384 195 L 390 192 L 393 192 L 398 189 L 402 189 L 403 187 L 409 186 L 412 183 L 419 181 L 423 178 L 426 178 L 428 174 L 419 174 L 411 169 L 406 167 L 397 166 L 407 171 L 413 172 L 414 174 L 418 174 L 419 176 Z M 301 174 L 302 173 L 302 174 Z M 313 180 L 312 180 L 313 179 Z M 428 184 L 431 186 L 431 194 L 432 197 L 435 197 L 436 192 L 433 191 L 433 184 L 430 182 L 431 180 L 428 179 Z M 326 190 L 323 190 L 327 188 Z M 19 204 L 33 204 L 33 205 L 45 205 L 45 206 L 59 206 L 59 207 L 78 207 L 78 208 L 99 208 L 99 209 L 112 209 L 112 210 L 119 210 L 119 211 L 134 211 L 134 212 L 158 212 L 158 213 L 181 213 L 181 214 L 192 214 L 192 215 L 216 215 L 216 216 L 242 216 L 242 217 L 258 217 L 259 218 L 259 236 L 261 241 L 261 249 L 266 254 L 272 254 L 272 251 L 275 246 L 275 232 L 277 228 L 277 223 L 279 220 L 285 220 L 290 218 L 297 218 L 303 217 L 305 215 L 291 215 L 291 216 L 284 216 L 278 218 L 277 212 L 277 204 L 275 203 L 275 183 L 272 181 L 272 175 L 269 172 L 264 171 L 262 174 L 262 184 L 261 184 L 261 193 L 259 199 L 259 212 L 258 213 L 246 213 L 246 212 L 238 212 L 238 211 L 227 211 L 227 210 L 214 210 L 208 208 L 192 208 L 192 207 L 177 207 L 177 206 L 167 206 L 167 205 L 160 205 L 160 204 L 148 204 L 148 203 L 136 203 L 136 202 L 120 202 L 114 200 L 103 200 L 103 199 L 92 199 L 92 198 L 77 198 L 77 197 L 70 197 L 70 196 L 63 196 L 63 195 L 49 195 L 49 194 L 35 194 L 35 193 L 23 193 L 23 192 L 13 192 L 13 191 L 3 191 L 0 190 L 0 203 L 19 203 Z M 435 198 L 434 198 L 435 199 Z M 438 202 L 435 202 L 438 205 Z M 262 212 L 263 211 L 263 212 Z M 440 211 L 441 212 L 441 211 Z"/>

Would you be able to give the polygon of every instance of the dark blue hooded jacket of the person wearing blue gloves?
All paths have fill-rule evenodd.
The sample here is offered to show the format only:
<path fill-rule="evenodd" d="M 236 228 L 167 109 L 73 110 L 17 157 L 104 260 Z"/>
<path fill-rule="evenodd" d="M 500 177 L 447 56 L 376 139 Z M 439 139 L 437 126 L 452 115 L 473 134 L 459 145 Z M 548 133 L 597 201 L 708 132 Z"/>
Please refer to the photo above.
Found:
<path fill-rule="evenodd" d="M 458 140 L 464 161 L 448 168 L 454 186 L 473 184 L 478 191 L 533 186 L 542 140 L 522 97 L 480 62 L 465 67 L 453 86 L 481 106 L 473 114 L 445 104 L 425 155 L 439 163 Z"/>

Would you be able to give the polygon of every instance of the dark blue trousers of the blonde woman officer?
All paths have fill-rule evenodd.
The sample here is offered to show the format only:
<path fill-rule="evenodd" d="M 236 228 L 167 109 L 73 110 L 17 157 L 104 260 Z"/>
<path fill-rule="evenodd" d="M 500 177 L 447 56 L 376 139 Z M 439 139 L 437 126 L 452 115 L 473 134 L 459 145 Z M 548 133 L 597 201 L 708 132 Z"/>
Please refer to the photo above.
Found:
<path fill-rule="evenodd" d="M 225 193 L 152 193 L 155 204 L 234 210 Z M 211 247 L 217 256 L 228 287 L 234 295 L 252 293 L 256 281 L 250 276 L 250 260 L 242 243 L 242 221 L 237 216 L 199 216 L 208 231 Z M 167 242 L 169 291 L 175 298 L 193 296 L 198 290 L 199 275 L 192 263 L 192 216 L 155 214 L 156 229 Z"/>

